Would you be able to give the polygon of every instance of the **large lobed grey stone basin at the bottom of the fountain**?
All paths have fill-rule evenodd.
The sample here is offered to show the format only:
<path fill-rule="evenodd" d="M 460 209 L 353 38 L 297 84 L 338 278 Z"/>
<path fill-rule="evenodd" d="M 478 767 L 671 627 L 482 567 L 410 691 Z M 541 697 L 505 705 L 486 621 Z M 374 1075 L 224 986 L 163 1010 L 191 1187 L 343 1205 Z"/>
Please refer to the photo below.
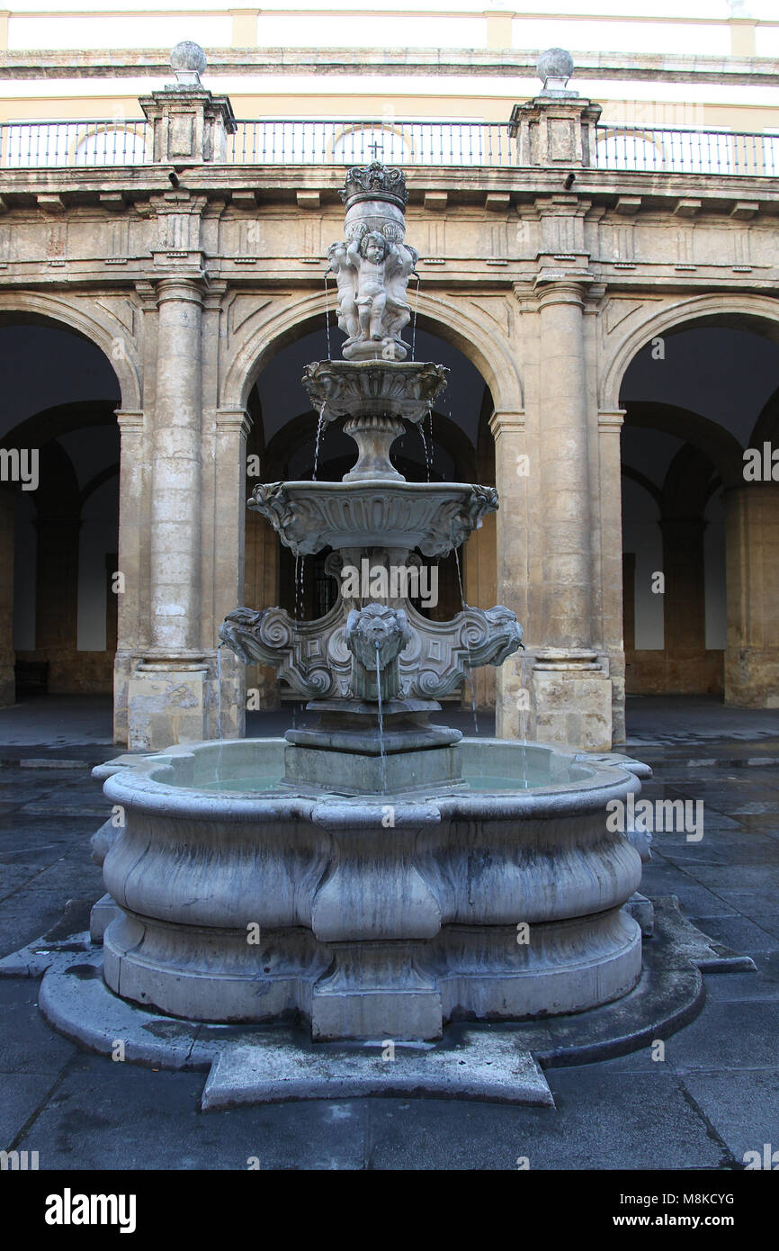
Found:
<path fill-rule="evenodd" d="M 470 791 L 355 799 L 334 777 L 303 797 L 276 788 L 286 746 L 199 743 L 109 777 L 126 822 L 104 864 L 121 908 L 104 941 L 116 993 L 203 1021 L 400 1040 L 581 1011 L 635 985 L 640 931 L 623 906 L 640 858 L 605 811 L 640 791 L 628 768 L 464 739 Z"/>

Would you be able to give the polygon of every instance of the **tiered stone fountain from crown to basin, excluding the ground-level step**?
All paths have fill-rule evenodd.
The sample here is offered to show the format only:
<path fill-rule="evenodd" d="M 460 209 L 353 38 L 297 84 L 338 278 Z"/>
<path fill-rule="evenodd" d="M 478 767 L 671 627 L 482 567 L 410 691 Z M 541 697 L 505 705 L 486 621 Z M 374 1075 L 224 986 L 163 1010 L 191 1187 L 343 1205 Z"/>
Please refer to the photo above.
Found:
<path fill-rule="evenodd" d="M 628 762 L 439 724 L 438 699 L 521 631 L 503 607 L 428 620 L 401 575 L 464 543 L 498 495 L 394 468 L 446 372 L 408 360 L 401 338 L 418 259 L 404 175 L 353 169 L 343 195 L 329 255 L 345 359 L 309 365 L 304 385 L 323 427 L 345 419 L 358 460 L 343 482 L 263 484 L 249 507 L 298 557 L 330 547 L 339 584 L 346 567 L 384 569 L 386 593 L 339 593 L 314 622 L 238 608 L 221 627 L 310 701 L 315 728 L 115 767 L 105 794 L 126 823 L 104 866 L 119 909 L 105 982 L 163 1013 L 293 1018 L 314 1040 L 433 1040 L 458 1020 L 603 1005 L 641 968 L 624 907 L 640 856 L 605 821 L 640 783 Z"/>

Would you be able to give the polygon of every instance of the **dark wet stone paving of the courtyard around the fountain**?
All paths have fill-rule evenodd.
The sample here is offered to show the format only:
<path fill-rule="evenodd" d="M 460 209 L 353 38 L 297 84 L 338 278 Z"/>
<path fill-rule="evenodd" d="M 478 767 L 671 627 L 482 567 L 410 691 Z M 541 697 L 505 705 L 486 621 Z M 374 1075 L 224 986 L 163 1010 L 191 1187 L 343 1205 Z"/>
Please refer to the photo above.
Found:
<path fill-rule="evenodd" d="M 116 754 L 109 724 L 89 702 L 0 712 L 0 956 L 55 926 L 69 899 L 84 904 L 58 936 L 81 928 L 103 893 L 88 839 L 109 806 L 89 769 Z M 636 701 L 628 724 L 630 751 L 655 769 L 643 798 L 704 802 L 700 842 L 655 833 L 645 892 L 676 894 L 758 966 L 706 975 L 703 1012 L 663 1062 L 644 1050 L 550 1068 L 555 1110 L 366 1098 L 203 1113 L 203 1073 L 88 1055 L 45 1025 L 36 981 L 5 978 L 0 1147 L 36 1150 L 46 1170 L 235 1170 L 249 1157 L 269 1170 L 513 1170 L 520 1156 L 536 1170 L 729 1170 L 745 1151 L 779 1150 L 779 713 Z"/>

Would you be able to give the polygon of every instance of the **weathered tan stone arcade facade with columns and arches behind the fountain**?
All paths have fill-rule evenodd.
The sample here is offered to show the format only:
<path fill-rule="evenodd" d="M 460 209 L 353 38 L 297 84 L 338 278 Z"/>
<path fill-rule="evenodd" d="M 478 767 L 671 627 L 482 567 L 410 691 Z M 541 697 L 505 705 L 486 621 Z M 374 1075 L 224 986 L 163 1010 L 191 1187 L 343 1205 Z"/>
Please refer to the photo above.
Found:
<path fill-rule="evenodd" d="M 50 689 L 104 689 L 115 629 L 116 742 L 158 748 L 244 733 L 248 686 L 260 703 L 279 697 L 268 673 L 246 674 L 224 651 L 220 658 L 216 631 L 236 604 L 284 598 L 290 579 L 275 535 L 246 518 L 245 500 L 253 458 L 254 477 L 273 480 L 299 448 L 310 457 L 315 415 L 300 393 L 296 424 L 268 437 L 256 384 L 280 353 L 291 360 L 296 343 L 321 335 L 344 168 L 228 160 L 230 101 L 199 80 L 141 105 L 154 134 L 143 163 L 0 169 L 0 327 L 60 328 L 86 342 L 118 395 L 108 408 L 81 405 L 70 424 L 68 403 L 49 405 L 11 425 L 0 449 L 11 455 L 33 440 L 43 449 L 110 422 L 120 437 L 105 646 L 81 649 L 81 661 L 84 489 L 70 499 L 56 455 L 41 450 L 38 492 L 24 498 L 11 482 L 0 490 L 0 577 L 10 578 L 14 528 L 25 518 L 38 544 L 33 647 L 15 648 L 9 588 L 1 597 L 0 691 L 13 701 L 20 653 L 49 664 Z M 564 89 L 519 104 L 515 161 L 406 168 L 406 220 L 423 258 L 420 337 L 434 335 L 484 384 L 470 440 L 445 414 L 435 418 L 451 475 L 494 480 L 500 494 L 496 518 L 464 553 L 465 598 L 506 604 L 525 632 L 524 658 L 480 676 L 476 699 L 494 699 L 500 736 L 606 749 L 624 738 L 626 681 L 635 691 L 723 691 L 728 703 L 779 707 L 779 467 L 773 474 L 770 460 L 779 370 L 775 395 L 754 393 L 763 397 L 754 420 L 746 409 L 731 422 L 706 417 L 705 404 L 695 409 L 681 394 L 685 359 L 709 368 L 721 349 L 738 364 L 745 338 L 758 343 L 754 368 L 765 379 L 779 360 L 779 184 L 759 163 L 718 174 L 604 168 L 598 118 L 596 104 Z M 330 333 L 335 347 L 340 335 Z M 689 352 L 675 364 L 674 344 Z M 323 347 L 324 335 L 320 355 Z M 641 390 L 653 360 L 669 367 L 665 382 Z M 749 369 L 743 379 L 730 372 L 734 395 L 746 388 L 753 397 Z M 640 434 L 625 464 L 624 427 L 670 440 L 661 472 L 636 463 Z M 759 477 L 744 475 L 749 448 L 768 457 Z M 625 477 L 655 510 L 661 543 L 649 572 L 624 545 Z M 719 646 L 708 643 L 716 631 L 705 602 L 714 497 L 724 545 Z M 645 585 L 656 573 L 663 584 Z M 663 597 L 660 647 L 641 646 L 648 594 Z"/>

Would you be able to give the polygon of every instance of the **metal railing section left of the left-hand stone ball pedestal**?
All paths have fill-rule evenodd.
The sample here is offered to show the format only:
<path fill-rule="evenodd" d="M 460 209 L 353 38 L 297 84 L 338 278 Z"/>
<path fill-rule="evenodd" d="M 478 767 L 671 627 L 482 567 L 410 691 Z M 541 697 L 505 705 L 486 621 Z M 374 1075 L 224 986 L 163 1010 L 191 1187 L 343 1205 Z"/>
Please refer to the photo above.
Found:
<path fill-rule="evenodd" d="M 144 165 L 154 159 L 151 143 L 146 121 L 4 121 L 0 168 Z"/>

